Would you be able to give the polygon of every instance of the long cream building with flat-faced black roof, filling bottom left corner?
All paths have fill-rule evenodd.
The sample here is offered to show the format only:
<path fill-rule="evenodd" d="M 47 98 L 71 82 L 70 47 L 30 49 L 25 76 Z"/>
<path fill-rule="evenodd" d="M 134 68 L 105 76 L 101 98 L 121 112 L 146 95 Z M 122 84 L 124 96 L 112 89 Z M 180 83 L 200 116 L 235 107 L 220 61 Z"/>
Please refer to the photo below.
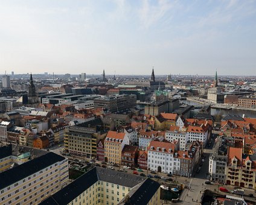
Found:
<path fill-rule="evenodd" d="M 68 159 L 47 153 L 0 173 L 0 204 L 37 204 L 68 181 Z"/>

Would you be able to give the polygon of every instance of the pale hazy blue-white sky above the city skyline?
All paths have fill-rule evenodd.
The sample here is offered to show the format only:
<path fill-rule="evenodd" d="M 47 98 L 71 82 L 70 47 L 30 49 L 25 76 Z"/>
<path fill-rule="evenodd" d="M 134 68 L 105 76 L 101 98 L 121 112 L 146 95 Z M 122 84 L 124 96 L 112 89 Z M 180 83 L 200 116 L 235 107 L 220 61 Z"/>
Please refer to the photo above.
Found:
<path fill-rule="evenodd" d="M 256 75 L 256 1 L 0 0 L 0 71 Z"/>

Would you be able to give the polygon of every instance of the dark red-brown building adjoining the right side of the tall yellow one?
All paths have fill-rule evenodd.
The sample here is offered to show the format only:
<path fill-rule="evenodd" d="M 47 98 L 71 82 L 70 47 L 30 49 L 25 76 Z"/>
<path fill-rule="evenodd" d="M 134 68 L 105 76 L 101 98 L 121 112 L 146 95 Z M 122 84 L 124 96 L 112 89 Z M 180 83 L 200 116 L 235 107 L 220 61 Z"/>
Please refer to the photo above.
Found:
<path fill-rule="evenodd" d="M 139 151 L 137 146 L 124 145 L 121 164 L 134 167 L 138 163 Z"/>

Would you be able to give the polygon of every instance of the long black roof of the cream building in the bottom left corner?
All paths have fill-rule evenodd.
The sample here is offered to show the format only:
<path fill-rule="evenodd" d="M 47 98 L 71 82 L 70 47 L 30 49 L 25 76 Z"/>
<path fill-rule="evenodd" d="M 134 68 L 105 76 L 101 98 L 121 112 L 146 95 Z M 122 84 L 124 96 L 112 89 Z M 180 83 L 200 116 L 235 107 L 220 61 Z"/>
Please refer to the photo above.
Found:
<path fill-rule="evenodd" d="M 43 168 L 53 165 L 54 163 L 60 162 L 64 159 L 65 157 L 50 152 L 12 169 L 8 169 L 7 171 L 0 173 L 0 189 L 4 189 L 13 183 L 16 183 L 16 181 L 22 180 L 29 175 L 32 175 L 42 170 Z"/>

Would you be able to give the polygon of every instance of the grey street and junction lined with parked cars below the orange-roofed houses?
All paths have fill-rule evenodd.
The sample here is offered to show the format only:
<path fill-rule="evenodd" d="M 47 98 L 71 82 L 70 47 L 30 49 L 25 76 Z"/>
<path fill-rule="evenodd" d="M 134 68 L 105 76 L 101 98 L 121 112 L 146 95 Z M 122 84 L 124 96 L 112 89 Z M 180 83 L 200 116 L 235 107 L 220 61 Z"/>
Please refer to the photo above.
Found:
<path fill-rule="evenodd" d="M 213 142 L 214 142 L 214 138 L 213 138 Z M 181 176 L 178 176 L 178 175 L 177 176 L 173 175 L 171 177 L 173 179 L 173 181 L 178 181 L 179 184 L 185 184 L 185 186 L 188 187 L 188 188 L 184 189 L 181 196 L 179 197 L 180 202 L 178 204 L 200 204 L 202 194 L 205 191 L 205 189 L 211 189 L 211 191 L 216 190 L 217 192 L 220 192 L 220 191 L 218 191 L 219 186 L 220 186 L 219 184 L 213 183 L 213 182 L 211 184 L 205 184 L 205 180 L 208 179 L 209 157 L 210 157 L 211 153 L 213 153 L 213 146 L 214 146 L 214 143 L 211 143 L 210 147 L 206 146 L 206 148 L 203 149 L 203 154 L 206 157 L 205 157 L 205 161 L 202 163 L 202 166 L 200 166 L 201 169 L 200 169 L 199 173 L 197 173 L 196 171 L 199 168 L 200 160 L 199 160 L 199 163 L 197 164 L 196 168 L 194 168 L 194 174 L 193 174 L 192 178 L 191 177 L 190 178 L 181 177 Z M 54 145 L 53 147 L 49 148 L 48 151 L 52 151 L 56 154 L 62 155 L 63 149 L 64 149 L 63 144 L 60 144 L 60 145 Z M 76 158 L 76 157 L 73 157 L 73 156 L 64 156 L 64 157 L 67 157 L 69 159 Z M 77 157 L 77 159 L 80 159 L 80 158 Z M 82 160 L 83 160 L 84 164 L 86 164 L 86 162 L 87 163 L 90 162 L 90 159 L 83 158 Z M 99 161 L 96 161 L 95 163 L 97 163 L 101 166 L 103 165 L 103 163 L 101 163 Z M 106 165 L 106 166 L 107 167 L 112 166 L 117 171 L 120 171 L 120 169 L 124 169 L 123 166 L 119 166 L 119 167 L 113 166 L 113 165 Z M 126 170 L 127 173 L 129 173 L 129 174 L 133 174 L 132 169 L 124 169 L 124 170 Z M 148 170 L 143 170 L 143 172 L 139 172 L 139 171 L 137 171 L 137 172 L 138 172 L 138 174 L 143 173 L 146 176 L 147 175 L 152 175 L 152 176 L 158 175 L 159 177 L 170 178 L 170 177 L 167 176 L 167 174 L 162 173 L 162 172 L 158 172 L 156 174 L 152 174 Z M 162 180 L 161 178 L 153 177 L 152 179 L 158 181 L 160 184 L 171 185 L 171 183 L 173 183 L 172 181 Z M 226 189 L 228 189 L 229 191 L 232 191 L 234 189 L 233 186 L 226 186 L 225 185 L 224 187 Z M 255 195 L 253 189 L 246 189 L 246 188 L 243 188 L 243 189 L 245 189 L 245 195 L 248 195 L 248 194 L 254 194 Z M 223 194 L 223 192 L 220 192 L 220 193 Z M 233 195 L 233 194 L 229 193 L 229 195 Z M 238 195 L 234 195 L 234 196 L 237 197 Z"/>

